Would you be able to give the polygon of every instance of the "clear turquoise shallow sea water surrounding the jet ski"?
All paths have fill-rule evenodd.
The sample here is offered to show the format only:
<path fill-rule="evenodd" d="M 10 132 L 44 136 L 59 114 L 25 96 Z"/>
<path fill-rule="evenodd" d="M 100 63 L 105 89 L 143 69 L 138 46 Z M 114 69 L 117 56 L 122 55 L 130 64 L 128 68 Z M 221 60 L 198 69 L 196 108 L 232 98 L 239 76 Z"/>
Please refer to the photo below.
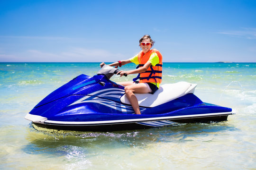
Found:
<path fill-rule="evenodd" d="M 256 63 L 164 63 L 163 84 L 198 84 L 203 102 L 236 110 L 226 122 L 103 133 L 34 128 L 24 119 L 47 94 L 95 75 L 99 64 L 0 63 L 0 169 L 256 168 Z"/>

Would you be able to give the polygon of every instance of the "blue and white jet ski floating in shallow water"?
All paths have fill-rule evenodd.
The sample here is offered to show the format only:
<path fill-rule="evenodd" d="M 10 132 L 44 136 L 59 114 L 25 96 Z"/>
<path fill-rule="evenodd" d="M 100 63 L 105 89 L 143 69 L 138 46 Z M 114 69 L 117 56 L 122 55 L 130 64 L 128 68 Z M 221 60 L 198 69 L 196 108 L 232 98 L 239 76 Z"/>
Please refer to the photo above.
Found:
<path fill-rule="evenodd" d="M 104 65 L 95 76 L 80 75 L 39 102 L 25 117 L 38 127 L 117 131 L 170 126 L 177 123 L 219 122 L 231 108 L 202 102 L 197 84 L 164 84 L 154 93 L 135 94 L 141 115 L 135 114 L 124 86 L 110 80 L 118 68 Z"/>

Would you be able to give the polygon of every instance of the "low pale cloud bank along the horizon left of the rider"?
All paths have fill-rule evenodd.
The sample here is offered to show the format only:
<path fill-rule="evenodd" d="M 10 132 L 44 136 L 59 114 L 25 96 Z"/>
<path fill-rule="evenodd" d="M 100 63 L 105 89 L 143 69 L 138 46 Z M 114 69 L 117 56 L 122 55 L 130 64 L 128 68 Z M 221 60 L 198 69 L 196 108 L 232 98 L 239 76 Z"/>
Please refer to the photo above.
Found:
<path fill-rule="evenodd" d="M 0 62 L 112 62 L 126 58 L 123 54 L 103 49 L 73 48 L 69 51 L 51 53 L 39 50 L 7 54 L 0 53 Z"/>

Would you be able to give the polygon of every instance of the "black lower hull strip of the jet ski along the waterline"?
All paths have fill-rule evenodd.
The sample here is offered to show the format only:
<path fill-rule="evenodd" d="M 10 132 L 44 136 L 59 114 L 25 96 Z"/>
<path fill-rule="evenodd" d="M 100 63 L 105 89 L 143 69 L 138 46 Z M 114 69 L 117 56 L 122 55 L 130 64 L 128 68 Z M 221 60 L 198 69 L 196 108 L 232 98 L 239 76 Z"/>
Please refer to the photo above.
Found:
<path fill-rule="evenodd" d="M 125 121 L 119 122 L 76 122 L 75 124 L 65 122 L 55 122 L 55 123 L 34 123 L 38 127 L 58 129 L 58 130 L 75 130 L 75 131 L 121 131 L 121 130 L 137 130 L 137 129 L 147 129 L 152 127 L 164 127 L 172 126 L 180 123 L 211 123 L 226 121 L 228 116 L 233 113 L 216 114 L 216 115 L 201 115 L 198 117 L 184 117 L 184 118 L 173 118 L 173 119 L 163 119 L 163 120 L 153 120 L 153 121 Z"/>

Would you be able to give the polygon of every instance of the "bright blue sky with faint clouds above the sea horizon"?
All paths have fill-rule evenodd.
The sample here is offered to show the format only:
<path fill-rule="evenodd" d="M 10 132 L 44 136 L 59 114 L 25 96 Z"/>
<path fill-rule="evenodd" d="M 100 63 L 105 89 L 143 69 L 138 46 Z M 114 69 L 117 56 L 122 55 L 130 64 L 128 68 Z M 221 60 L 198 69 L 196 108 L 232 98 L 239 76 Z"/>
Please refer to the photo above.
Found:
<path fill-rule="evenodd" d="M 0 0 L 0 62 L 256 62 L 256 0 Z"/>

